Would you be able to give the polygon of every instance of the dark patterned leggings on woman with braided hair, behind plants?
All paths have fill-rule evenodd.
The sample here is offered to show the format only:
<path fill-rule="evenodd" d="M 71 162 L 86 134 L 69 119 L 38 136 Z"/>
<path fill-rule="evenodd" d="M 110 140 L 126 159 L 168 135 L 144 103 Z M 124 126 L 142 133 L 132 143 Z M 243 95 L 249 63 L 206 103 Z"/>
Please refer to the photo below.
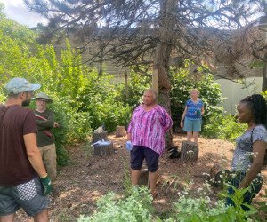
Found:
<path fill-rule="evenodd" d="M 241 183 L 241 181 L 243 180 L 243 178 L 245 178 L 246 173 L 245 172 L 233 172 L 232 174 L 234 174 L 234 177 L 231 178 L 231 186 L 234 186 L 236 188 L 239 187 L 239 184 Z M 244 194 L 244 200 L 243 203 L 248 203 L 251 204 L 252 199 L 255 198 L 256 194 L 258 194 L 261 190 L 263 186 L 263 177 L 261 175 L 258 175 L 250 184 L 249 186 L 249 190 Z M 232 187 L 230 187 L 228 189 L 228 194 L 234 194 L 234 190 Z M 231 200 L 231 198 L 227 198 L 226 200 L 226 204 L 227 205 L 232 205 L 234 206 L 234 202 Z M 247 208 L 244 205 L 241 205 L 243 210 L 250 210 L 249 208 Z"/>

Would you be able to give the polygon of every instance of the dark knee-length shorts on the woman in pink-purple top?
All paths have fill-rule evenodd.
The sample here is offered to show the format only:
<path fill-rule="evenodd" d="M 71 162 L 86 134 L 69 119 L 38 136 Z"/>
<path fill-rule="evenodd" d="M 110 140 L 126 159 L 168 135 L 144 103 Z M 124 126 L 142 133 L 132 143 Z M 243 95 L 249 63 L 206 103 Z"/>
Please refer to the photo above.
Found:
<path fill-rule="evenodd" d="M 141 170 L 142 162 L 145 159 L 148 170 L 155 172 L 158 170 L 159 154 L 154 150 L 144 146 L 134 146 L 131 150 L 131 168 L 132 170 Z"/>

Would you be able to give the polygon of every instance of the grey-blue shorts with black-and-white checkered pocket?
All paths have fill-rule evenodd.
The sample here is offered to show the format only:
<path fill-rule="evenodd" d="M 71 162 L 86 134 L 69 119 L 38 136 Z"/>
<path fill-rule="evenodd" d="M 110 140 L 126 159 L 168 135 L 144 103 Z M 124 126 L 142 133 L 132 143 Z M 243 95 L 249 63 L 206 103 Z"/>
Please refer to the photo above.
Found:
<path fill-rule="evenodd" d="M 47 208 L 49 199 L 43 195 L 39 178 L 17 186 L 0 186 L 0 216 L 15 213 L 22 208 L 33 217 Z"/>

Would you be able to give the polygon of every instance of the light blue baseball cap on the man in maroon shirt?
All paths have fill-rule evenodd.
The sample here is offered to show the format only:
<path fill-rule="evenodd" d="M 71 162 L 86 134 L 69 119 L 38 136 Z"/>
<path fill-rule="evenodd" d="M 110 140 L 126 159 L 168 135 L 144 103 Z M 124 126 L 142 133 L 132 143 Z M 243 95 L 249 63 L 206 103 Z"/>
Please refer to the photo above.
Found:
<path fill-rule="evenodd" d="M 8 94 L 19 94 L 23 91 L 36 91 L 40 88 L 40 84 L 29 83 L 28 80 L 24 78 L 12 78 L 4 86 L 4 89 L 7 91 Z"/>

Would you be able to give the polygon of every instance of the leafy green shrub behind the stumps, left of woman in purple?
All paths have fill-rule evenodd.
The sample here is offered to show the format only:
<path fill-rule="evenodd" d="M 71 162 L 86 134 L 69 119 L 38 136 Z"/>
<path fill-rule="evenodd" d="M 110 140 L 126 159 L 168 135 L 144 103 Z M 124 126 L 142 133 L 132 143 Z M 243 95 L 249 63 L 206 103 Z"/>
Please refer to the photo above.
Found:
<path fill-rule="evenodd" d="M 96 129 L 105 125 L 107 131 L 115 131 L 117 125 L 126 125 L 131 116 L 131 108 L 116 98 L 116 86 L 111 75 L 98 76 L 88 73 L 84 90 L 78 95 L 78 112 L 90 115 L 91 127 Z"/>

